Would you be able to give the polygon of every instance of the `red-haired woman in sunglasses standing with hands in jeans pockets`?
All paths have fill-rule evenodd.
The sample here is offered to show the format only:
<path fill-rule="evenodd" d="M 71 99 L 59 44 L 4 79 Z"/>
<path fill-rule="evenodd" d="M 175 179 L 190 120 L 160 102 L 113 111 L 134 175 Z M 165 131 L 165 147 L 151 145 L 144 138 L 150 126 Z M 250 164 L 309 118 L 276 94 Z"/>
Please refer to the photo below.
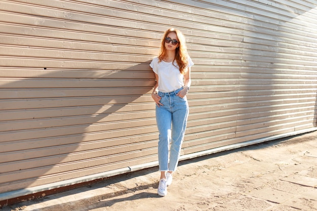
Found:
<path fill-rule="evenodd" d="M 185 37 L 177 29 L 168 29 L 162 40 L 159 57 L 150 66 L 155 73 L 156 84 L 152 93 L 159 129 L 159 171 L 161 178 L 157 193 L 166 196 L 167 186 L 172 183 L 176 171 L 181 144 L 188 116 L 186 94 L 190 87 L 190 67 Z M 169 159 L 169 146 L 170 159 Z"/>

